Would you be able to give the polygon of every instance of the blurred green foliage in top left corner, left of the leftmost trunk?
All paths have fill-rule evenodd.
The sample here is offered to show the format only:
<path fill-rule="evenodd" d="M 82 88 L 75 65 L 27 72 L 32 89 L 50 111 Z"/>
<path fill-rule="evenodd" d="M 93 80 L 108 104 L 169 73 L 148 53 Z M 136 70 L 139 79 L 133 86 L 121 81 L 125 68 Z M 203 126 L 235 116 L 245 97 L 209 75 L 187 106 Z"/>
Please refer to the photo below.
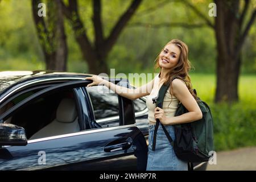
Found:
<path fill-rule="evenodd" d="M 24 60 L 24 56 L 28 56 L 27 61 L 31 56 L 42 60 L 30 1 L 1 1 L 0 20 L 0 69 L 15 65 L 7 61 Z M 14 66 L 10 69 L 17 68 Z"/>

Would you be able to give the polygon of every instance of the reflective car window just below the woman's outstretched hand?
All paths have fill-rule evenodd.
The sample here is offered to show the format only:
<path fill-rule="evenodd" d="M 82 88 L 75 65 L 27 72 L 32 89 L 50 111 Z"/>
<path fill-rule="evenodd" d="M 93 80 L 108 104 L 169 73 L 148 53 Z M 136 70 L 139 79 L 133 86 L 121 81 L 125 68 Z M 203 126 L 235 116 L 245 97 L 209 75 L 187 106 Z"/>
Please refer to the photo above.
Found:
<path fill-rule="evenodd" d="M 96 121 L 98 121 L 98 124 L 102 126 L 104 123 L 107 127 L 110 125 L 119 125 L 119 105 L 117 94 L 103 85 L 86 87 L 86 90 L 89 93 L 94 116 Z M 112 117 L 114 117 L 113 120 L 109 120 Z M 107 119 L 108 122 L 102 121 L 104 119 Z"/>

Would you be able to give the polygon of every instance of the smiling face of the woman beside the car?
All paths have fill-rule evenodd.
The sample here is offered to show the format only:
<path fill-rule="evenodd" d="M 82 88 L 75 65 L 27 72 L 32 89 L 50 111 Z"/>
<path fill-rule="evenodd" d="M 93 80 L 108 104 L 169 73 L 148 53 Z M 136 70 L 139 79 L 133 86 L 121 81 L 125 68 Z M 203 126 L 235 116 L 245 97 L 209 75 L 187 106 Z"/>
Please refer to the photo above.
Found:
<path fill-rule="evenodd" d="M 180 57 L 180 49 L 175 44 L 168 44 L 159 55 L 161 68 L 170 69 L 175 67 Z"/>

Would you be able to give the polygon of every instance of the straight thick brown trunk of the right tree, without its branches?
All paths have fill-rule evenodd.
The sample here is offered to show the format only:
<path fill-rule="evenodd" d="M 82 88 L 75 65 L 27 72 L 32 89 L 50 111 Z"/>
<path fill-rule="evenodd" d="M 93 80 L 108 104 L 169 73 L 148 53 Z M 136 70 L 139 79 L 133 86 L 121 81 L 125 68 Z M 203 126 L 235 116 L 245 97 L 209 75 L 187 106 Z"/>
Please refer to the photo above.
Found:
<path fill-rule="evenodd" d="M 241 59 L 237 56 L 241 34 L 237 13 L 239 1 L 216 1 L 217 88 L 215 102 L 238 101 L 238 75 Z"/>

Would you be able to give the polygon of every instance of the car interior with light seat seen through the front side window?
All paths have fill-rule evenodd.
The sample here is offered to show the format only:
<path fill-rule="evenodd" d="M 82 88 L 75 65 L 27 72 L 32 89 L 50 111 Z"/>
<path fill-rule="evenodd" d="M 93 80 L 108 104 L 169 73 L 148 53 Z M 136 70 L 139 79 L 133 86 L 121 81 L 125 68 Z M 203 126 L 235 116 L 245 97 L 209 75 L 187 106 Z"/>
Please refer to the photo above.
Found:
<path fill-rule="evenodd" d="M 25 94 L 6 104 L 3 109 L 8 110 L 17 100 L 31 95 Z M 5 122 L 23 127 L 30 140 L 80 131 L 73 89 L 37 98 L 17 109 Z"/>

